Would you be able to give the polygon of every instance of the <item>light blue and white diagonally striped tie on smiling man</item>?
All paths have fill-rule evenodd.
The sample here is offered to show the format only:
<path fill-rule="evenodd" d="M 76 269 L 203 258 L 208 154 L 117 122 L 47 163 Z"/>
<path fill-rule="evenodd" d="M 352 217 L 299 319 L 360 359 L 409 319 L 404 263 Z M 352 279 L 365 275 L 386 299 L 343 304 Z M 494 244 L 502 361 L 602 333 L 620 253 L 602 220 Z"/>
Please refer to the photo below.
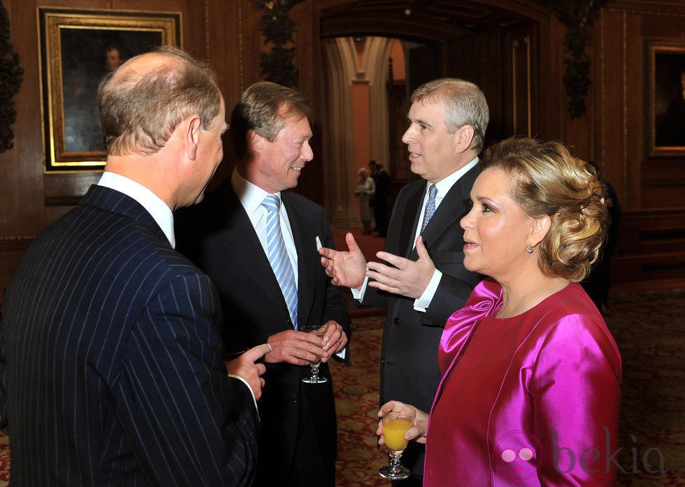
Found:
<path fill-rule="evenodd" d="M 297 286 L 293 267 L 285 249 L 281 233 L 278 208 L 281 201 L 278 196 L 270 194 L 264 198 L 261 205 L 266 208 L 266 247 L 268 248 L 269 263 L 281 288 L 285 303 L 288 305 L 290 319 L 297 330 Z"/>

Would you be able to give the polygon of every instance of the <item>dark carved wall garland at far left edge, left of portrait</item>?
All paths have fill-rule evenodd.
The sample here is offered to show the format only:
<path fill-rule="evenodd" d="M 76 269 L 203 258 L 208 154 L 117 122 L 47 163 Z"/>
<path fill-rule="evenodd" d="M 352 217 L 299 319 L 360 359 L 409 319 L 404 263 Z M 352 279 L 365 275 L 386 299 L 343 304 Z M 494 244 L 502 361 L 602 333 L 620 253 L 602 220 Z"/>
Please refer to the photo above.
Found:
<path fill-rule="evenodd" d="M 14 132 L 10 125 L 17 121 L 13 97 L 19 93 L 24 69 L 19 65 L 19 54 L 10 41 L 10 19 L 0 0 L 0 152 L 14 147 Z"/>

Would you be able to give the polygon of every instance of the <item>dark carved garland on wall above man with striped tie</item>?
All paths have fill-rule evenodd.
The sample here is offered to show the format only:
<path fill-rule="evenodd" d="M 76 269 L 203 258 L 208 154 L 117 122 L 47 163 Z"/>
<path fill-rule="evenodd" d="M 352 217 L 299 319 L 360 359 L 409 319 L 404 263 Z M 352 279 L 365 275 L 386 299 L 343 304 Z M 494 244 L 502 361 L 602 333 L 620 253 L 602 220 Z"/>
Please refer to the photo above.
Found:
<path fill-rule="evenodd" d="M 261 75 L 267 81 L 287 87 L 298 85 L 299 73 L 293 63 L 295 57 L 293 32 L 295 22 L 288 12 L 303 0 L 252 0 L 255 6 L 264 10 L 259 21 L 259 30 L 264 34 L 264 43 L 273 43 L 271 52 L 261 54 L 259 65 Z M 291 46 L 291 47 L 287 47 Z"/>

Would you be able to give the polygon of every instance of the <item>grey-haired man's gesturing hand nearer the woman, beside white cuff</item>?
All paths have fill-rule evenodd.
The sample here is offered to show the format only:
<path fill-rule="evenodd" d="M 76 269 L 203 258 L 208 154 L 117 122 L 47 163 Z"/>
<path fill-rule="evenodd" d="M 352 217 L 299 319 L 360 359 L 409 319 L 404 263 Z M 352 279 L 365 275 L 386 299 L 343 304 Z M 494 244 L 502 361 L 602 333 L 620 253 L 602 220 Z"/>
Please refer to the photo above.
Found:
<path fill-rule="evenodd" d="M 416 250 L 419 260 L 410 261 L 404 257 L 389 254 L 388 252 L 378 252 L 376 256 L 392 266 L 386 266 L 379 262 L 368 262 L 366 275 L 370 279 L 368 285 L 388 291 L 389 293 L 401 294 L 408 298 L 417 299 L 426 291 L 428 283 L 431 282 L 435 264 L 428 255 L 424 240 L 419 236 L 416 241 Z"/>

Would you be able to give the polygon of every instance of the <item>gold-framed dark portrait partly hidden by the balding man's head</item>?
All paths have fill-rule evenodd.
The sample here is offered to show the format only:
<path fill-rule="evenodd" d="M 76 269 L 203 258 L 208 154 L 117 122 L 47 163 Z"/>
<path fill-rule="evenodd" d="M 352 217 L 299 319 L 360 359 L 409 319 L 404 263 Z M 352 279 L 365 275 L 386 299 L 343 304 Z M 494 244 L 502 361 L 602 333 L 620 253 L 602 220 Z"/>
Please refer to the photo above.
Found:
<path fill-rule="evenodd" d="M 181 14 L 38 8 L 45 171 L 101 170 L 101 78 L 158 45 L 182 47 Z"/>

